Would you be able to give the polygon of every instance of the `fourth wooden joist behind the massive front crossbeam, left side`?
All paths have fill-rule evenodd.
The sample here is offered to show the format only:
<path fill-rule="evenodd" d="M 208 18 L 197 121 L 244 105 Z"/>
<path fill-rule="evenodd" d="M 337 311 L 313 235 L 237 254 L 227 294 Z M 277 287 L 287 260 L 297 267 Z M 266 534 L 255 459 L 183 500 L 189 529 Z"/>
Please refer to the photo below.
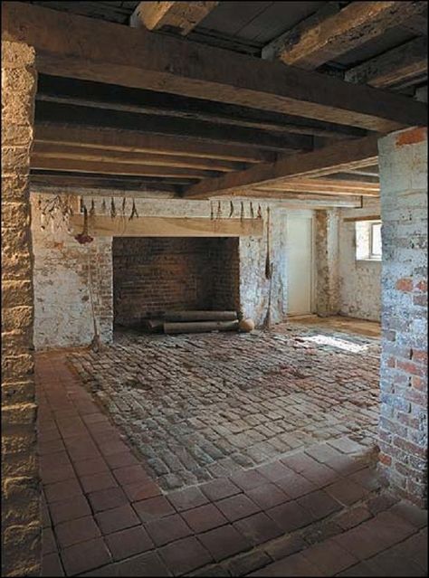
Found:
<path fill-rule="evenodd" d="M 180 168 L 197 168 L 201 170 L 228 173 L 245 168 L 245 163 L 233 163 L 214 158 L 195 158 L 192 156 L 152 155 L 149 153 L 129 153 L 97 147 L 72 147 L 56 143 L 38 142 L 33 146 L 33 155 L 39 158 L 81 159 L 126 165 L 154 165 Z"/>

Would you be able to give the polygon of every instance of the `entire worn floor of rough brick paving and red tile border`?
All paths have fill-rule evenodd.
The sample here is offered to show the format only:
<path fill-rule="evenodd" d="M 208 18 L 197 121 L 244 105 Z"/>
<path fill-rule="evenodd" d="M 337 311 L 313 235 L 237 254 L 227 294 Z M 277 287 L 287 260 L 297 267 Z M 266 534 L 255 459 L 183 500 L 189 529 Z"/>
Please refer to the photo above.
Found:
<path fill-rule="evenodd" d="M 309 342 L 306 337 L 317 337 L 317 340 Z M 327 337 L 338 342 L 334 344 Z M 318 343 L 320 340 L 323 343 Z M 198 346 L 186 346 L 184 337 L 176 337 L 174 341 L 179 347 L 160 349 L 166 358 L 165 381 L 160 378 L 165 394 L 168 394 L 167 384 L 172 386 L 175 377 L 180 380 L 182 388 L 186 384 L 181 365 L 184 358 L 176 357 L 176 349 L 179 354 L 183 354 L 184 348 L 187 352 L 189 381 L 194 379 L 198 364 L 202 365 L 207 359 L 198 355 Z M 94 362 L 97 358 L 102 360 L 97 367 L 99 380 L 104 379 L 109 384 L 96 391 L 105 393 L 104 401 L 108 402 L 107 405 L 114 403 L 118 412 L 123 408 L 118 404 L 120 396 L 110 402 L 110 388 L 114 383 L 110 379 L 115 377 L 117 383 L 122 384 L 132 374 L 133 379 L 147 383 L 143 381 L 143 375 L 149 365 L 138 366 L 136 374 L 132 364 L 143 364 L 143 355 L 140 359 L 138 351 L 141 352 L 143 346 L 150 346 L 152 364 L 158 371 L 161 355 L 156 352 L 162 341 L 154 340 L 154 343 L 158 347 L 150 346 L 150 340 L 140 341 L 140 337 L 120 337 L 119 343 L 113 346 L 119 352 L 116 365 L 113 361 L 106 361 L 110 359 L 106 351 L 91 356 Z M 374 415 L 359 412 L 366 407 L 365 400 L 372 400 L 376 394 L 372 384 L 375 376 L 370 377 L 373 370 L 368 370 L 368 366 L 375 363 L 372 355 L 377 358 L 377 345 L 346 353 L 338 346 L 360 347 L 366 346 L 367 342 L 356 338 L 349 341 L 347 336 L 336 336 L 331 332 L 313 334 L 298 327 L 294 327 L 291 333 L 282 331 L 278 337 L 260 334 L 243 339 L 234 336 L 228 341 L 228 347 L 223 345 L 226 341 L 215 335 L 200 336 L 195 343 L 200 347 L 211 344 L 209 359 L 212 363 L 207 367 L 203 364 L 205 376 L 196 373 L 194 397 L 190 386 L 186 388 L 187 405 L 186 397 L 180 396 L 182 390 L 176 386 L 176 397 L 173 395 L 169 403 L 174 410 L 170 416 L 183 412 L 187 421 L 193 419 L 190 408 L 194 406 L 194 399 L 195 408 L 204 409 L 204 394 L 198 393 L 204 381 L 208 383 L 208 396 L 222 393 L 222 388 L 211 385 L 209 378 L 218 377 L 215 367 L 220 373 L 221 366 L 230 368 L 216 354 L 227 355 L 229 351 L 230 355 L 239 355 L 236 347 L 240 346 L 240 355 L 246 353 L 246 347 L 249 348 L 244 355 L 248 379 L 243 379 L 238 372 L 234 390 L 231 383 L 228 385 L 228 379 L 233 380 L 229 374 L 229 378 L 224 378 L 227 380 L 224 386 L 227 394 L 221 400 L 226 399 L 229 403 L 237 396 L 257 391 L 258 398 L 253 403 L 264 409 L 246 412 L 246 416 L 267 415 L 268 420 L 262 423 L 278 424 L 279 427 L 282 422 L 296 420 L 292 430 L 283 432 L 285 440 L 290 436 L 300 441 L 304 428 L 311 428 L 311 424 L 316 428 L 307 431 L 305 442 L 287 450 L 280 448 L 271 459 L 262 452 L 263 460 L 256 466 L 251 464 L 246 468 L 231 458 L 231 463 L 237 463 L 237 467 L 224 468 L 224 473 L 221 470 L 215 474 L 209 472 L 210 479 L 191 486 L 187 483 L 186 488 L 167 488 L 163 483 L 165 478 L 157 477 L 153 463 L 134 450 L 127 436 L 126 424 L 121 423 L 119 428 L 110 422 L 110 415 L 99 403 L 100 395 L 92 395 L 87 390 L 64 353 L 38 355 L 39 454 L 44 495 L 43 576 L 426 575 L 427 513 L 407 502 L 398 502 L 378 479 L 372 441 Z M 263 359 L 262 346 L 266 348 Z M 134 355 L 127 357 L 129 347 Z M 310 377 L 295 376 L 293 379 L 291 372 L 299 371 L 304 354 L 313 349 L 315 353 L 309 353 L 311 361 L 307 361 L 311 366 L 306 371 L 317 365 L 325 382 L 322 379 L 318 384 L 316 374 L 312 372 Z M 364 351 L 367 351 L 368 358 L 362 355 Z M 87 352 L 74 354 L 73 364 L 76 365 L 76 359 L 85 360 L 86 355 Z M 258 374 L 255 358 L 258 355 L 261 362 L 268 359 L 265 371 L 276 369 L 271 380 L 262 370 Z M 321 359 L 324 356 L 329 361 L 322 371 Z M 176 360 L 176 365 L 170 363 L 171 359 Z M 213 360 L 216 359 L 215 363 Z M 359 367 L 357 359 L 363 368 Z M 281 371 L 281 364 L 286 365 L 287 371 Z M 347 367 L 351 372 L 348 377 Z M 239 369 L 243 370 L 243 365 L 239 365 Z M 366 373 L 362 373 L 364 369 Z M 209 370 L 211 374 L 207 377 Z M 81 373 L 85 376 L 86 370 Z M 258 377 L 262 381 L 258 381 Z M 294 380 L 299 384 L 307 380 L 308 387 L 294 389 Z M 338 380 L 337 389 L 342 388 L 341 393 L 337 392 L 342 401 L 337 404 L 334 403 L 335 380 Z M 156 384 L 154 377 L 152 388 L 156 388 Z M 243 387 L 243 384 L 250 387 Z M 87 385 L 93 386 L 93 376 Z M 131 392 L 134 387 L 135 384 L 129 387 Z M 271 388 L 271 397 L 261 396 L 264 388 Z M 319 397 L 316 399 L 324 395 L 328 396 L 328 401 L 325 406 L 318 402 L 309 407 L 307 404 L 313 399 L 310 393 L 318 388 Z M 146 396 L 152 400 L 156 394 L 160 398 L 162 393 L 149 388 L 136 389 L 138 395 L 129 396 L 129 401 L 134 403 L 139 399 L 142 407 Z M 262 405 L 269 399 L 281 400 L 297 395 L 301 397 L 290 397 L 290 403 L 297 410 L 301 407 L 301 417 L 297 412 L 290 412 L 276 418 L 268 414 L 275 412 L 274 409 Z M 349 398 L 355 401 L 351 404 L 354 411 L 359 412 L 358 418 L 354 418 L 356 430 L 349 429 L 347 417 L 342 412 L 342 408 L 348 407 Z M 214 415 L 221 416 L 221 412 L 226 411 L 219 409 L 223 401 L 216 402 L 214 397 L 210 399 Z M 356 400 L 359 400 L 358 404 Z M 249 403 L 247 399 L 243 403 L 242 399 L 241 405 L 231 407 L 239 413 Z M 374 407 L 372 401 L 370 404 Z M 152 407 L 159 405 L 158 399 Z M 323 409 L 332 417 L 338 415 L 339 422 L 307 421 L 314 414 L 322 418 Z M 286 412 L 286 404 L 280 404 L 280 412 Z M 347 412 L 350 420 L 351 407 Z M 227 428 L 241 418 L 235 413 L 224 422 Z M 126 412 L 124 415 L 131 420 L 133 414 Z M 139 419 L 144 422 L 148 418 Z M 132 419 L 136 427 L 138 417 L 134 415 Z M 172 427 L 174 420 L 170 424 Z M 162 428 L 157 425 L 157 430 L 169 434 L 168 425 L 163 422 L 161 425 Z M 197 425 L 194 422 L 195 431 L 198 431 Z M 251 426 L 256 427 L 252 423 Z M 319 429 L 328 432 L 329 428 L 338 427 L 345 429 L 333 429 L 329 437 L 321 439 L 315 435 Z M 205 425 L 201 430 L 205 429 L 214 431 L 215 423 Z M 227 435 L 243 431 L 230 431 Z M 267 443 L 278 434 L 277 431 L 272 431 L 271 437 L 267 434 Z M 226 439 L 226 434 L 221 438 Z M 213 443 L 217 445 L 215 441 Z M 225 460 L 224 455 L 217 460 L 213 458 L 206 464 L 206 471 L 209 471 L 208 465 L 214 466 L 221 460 Z M 204 470 L 203 466 L 199 467 Z"/>

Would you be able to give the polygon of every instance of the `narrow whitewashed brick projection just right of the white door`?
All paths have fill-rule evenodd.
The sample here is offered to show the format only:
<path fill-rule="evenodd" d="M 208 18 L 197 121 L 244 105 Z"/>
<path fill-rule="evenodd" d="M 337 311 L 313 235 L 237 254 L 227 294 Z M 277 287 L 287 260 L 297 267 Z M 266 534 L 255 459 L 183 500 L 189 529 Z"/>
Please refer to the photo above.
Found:
<path fill-rule="evenodd" d="M 339 309 L 338 209 L 316 211 L 317 313 L 337 315 Z"/>

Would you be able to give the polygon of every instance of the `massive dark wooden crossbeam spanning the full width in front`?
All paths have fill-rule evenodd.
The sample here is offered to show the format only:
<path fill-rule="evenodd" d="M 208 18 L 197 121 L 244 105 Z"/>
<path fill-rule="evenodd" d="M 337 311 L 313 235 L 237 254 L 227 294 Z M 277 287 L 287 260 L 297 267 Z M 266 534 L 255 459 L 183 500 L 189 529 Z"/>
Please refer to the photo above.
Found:
<path fill-rule="evenodd" d="M 2 39 L 26 42 L 37 70 L 316 118 L 377 132 L 425 125 L 424 103 L 312 71 L 99 22 L 2 3 Z M 114 42 L 112 42 L 114 39 Z"/>

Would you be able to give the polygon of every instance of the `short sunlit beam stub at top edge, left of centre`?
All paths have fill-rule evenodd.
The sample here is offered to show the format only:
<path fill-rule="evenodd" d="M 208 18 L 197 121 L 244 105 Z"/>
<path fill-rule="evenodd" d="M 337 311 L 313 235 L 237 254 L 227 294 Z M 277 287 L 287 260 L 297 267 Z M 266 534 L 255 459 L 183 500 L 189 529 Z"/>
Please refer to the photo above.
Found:
<path fill-rule="evenodd" d="M 136 28 L 161 30 L 186 36 L 218 2 L 140 2 L 129 24 Z"/>

